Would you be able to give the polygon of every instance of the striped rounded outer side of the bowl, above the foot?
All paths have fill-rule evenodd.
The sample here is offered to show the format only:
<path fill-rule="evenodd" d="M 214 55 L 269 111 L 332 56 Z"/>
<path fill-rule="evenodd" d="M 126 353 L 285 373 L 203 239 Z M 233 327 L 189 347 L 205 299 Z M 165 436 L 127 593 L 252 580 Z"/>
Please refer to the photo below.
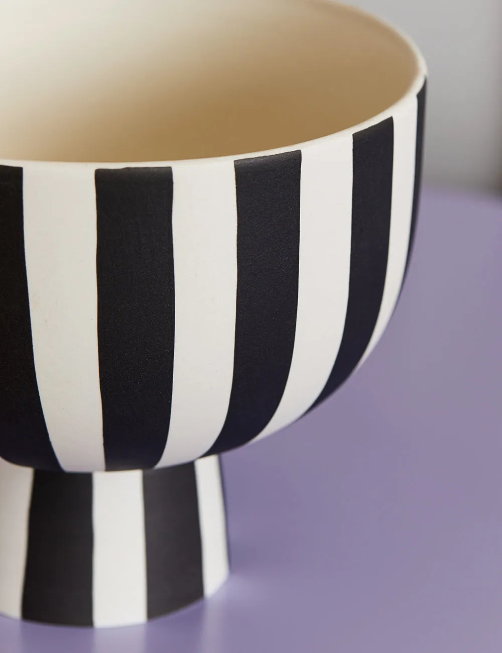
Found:
<path fill-rule="evenodd" d="M 0 167 L 0 456 L 172 466 L 334 392 L 400 294 L 424 100 L 268 156 Z"/>

